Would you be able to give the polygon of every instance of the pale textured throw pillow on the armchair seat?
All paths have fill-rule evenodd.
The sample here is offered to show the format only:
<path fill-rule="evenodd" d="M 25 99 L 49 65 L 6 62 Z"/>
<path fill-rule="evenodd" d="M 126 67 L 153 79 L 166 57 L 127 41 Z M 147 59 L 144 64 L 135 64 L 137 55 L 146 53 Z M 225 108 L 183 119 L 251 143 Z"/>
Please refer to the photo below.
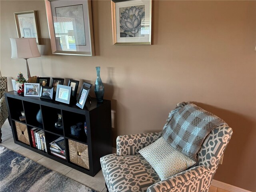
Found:
<path fill-rule="evenodd" d="M 142 148 L 139 153 L 154 168 L 161 180 L 182 172 L 196 163 L 170 146 L 163 137 Z"/>

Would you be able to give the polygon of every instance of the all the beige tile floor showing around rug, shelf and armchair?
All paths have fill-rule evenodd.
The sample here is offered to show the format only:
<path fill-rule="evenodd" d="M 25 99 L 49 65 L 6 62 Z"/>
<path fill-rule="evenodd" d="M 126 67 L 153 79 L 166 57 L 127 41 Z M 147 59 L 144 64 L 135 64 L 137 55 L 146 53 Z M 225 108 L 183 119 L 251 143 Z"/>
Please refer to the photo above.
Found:
<path fill-rule="evenodd" d="M 6 120 L 6 122 L 3 124 L 1 129 L 2 129 L 2 144 L 1 144 L 2 146 L 10 150 L 13 150 L 19 154 L 22 154 L 23 156 L 30 158 L 31 160 L 51 170 L 59 172 L 94 190 L 97 190 L 98 192 L 106 192 L 105 181 L 104 181 L 104 177 L 101 170 L 94 177 L 91 177 L 76 169 L 70 168 L 48 157 L 42 156 L 36 152 L 33 152 L 27 148 L 24 148 L 20 145 L 15 144 L 12 137 L 12 129 L 9 125 L 8 120 Z M 211 186 L 209 189 L 209 192 L 228 192 L 228 191 Z"/>

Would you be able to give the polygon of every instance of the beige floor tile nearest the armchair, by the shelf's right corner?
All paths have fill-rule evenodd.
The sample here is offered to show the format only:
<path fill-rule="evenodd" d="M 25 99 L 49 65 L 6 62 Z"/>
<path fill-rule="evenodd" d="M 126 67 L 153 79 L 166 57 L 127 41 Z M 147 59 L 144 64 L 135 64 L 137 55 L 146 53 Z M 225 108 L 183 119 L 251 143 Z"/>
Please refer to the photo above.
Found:
<path fill-rule="evenodd" d="M 105 180 L 101 170 L 92 177 L 78 170 L 72 169 L 68 174 L 66 174 L 66 176 L 100 192 L 105 188 Z"/>

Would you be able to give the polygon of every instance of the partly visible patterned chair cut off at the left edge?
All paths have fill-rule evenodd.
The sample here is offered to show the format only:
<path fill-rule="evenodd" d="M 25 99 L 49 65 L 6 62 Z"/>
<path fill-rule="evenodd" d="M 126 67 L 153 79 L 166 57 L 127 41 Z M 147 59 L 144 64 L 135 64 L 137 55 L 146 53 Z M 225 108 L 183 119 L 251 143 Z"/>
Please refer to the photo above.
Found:
<path fill-rule="evenodd" d="M 0 77 L 0 143 L 2 143 L 2 125 L 8 118 L 8 110 L 4 93 L 8 92 L 7 77 Z"/>

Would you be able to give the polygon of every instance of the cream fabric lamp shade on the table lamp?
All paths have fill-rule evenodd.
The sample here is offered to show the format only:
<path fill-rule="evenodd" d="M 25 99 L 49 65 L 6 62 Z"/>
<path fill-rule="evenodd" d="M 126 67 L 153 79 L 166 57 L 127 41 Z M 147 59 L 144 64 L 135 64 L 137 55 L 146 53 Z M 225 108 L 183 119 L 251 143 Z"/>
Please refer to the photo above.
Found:
<path fill-rule="evenodd" d="M 12 46 L 11 58 L 34 58 L 40 57 L 36 44 L 36 38 L 10 38 Z"/>

